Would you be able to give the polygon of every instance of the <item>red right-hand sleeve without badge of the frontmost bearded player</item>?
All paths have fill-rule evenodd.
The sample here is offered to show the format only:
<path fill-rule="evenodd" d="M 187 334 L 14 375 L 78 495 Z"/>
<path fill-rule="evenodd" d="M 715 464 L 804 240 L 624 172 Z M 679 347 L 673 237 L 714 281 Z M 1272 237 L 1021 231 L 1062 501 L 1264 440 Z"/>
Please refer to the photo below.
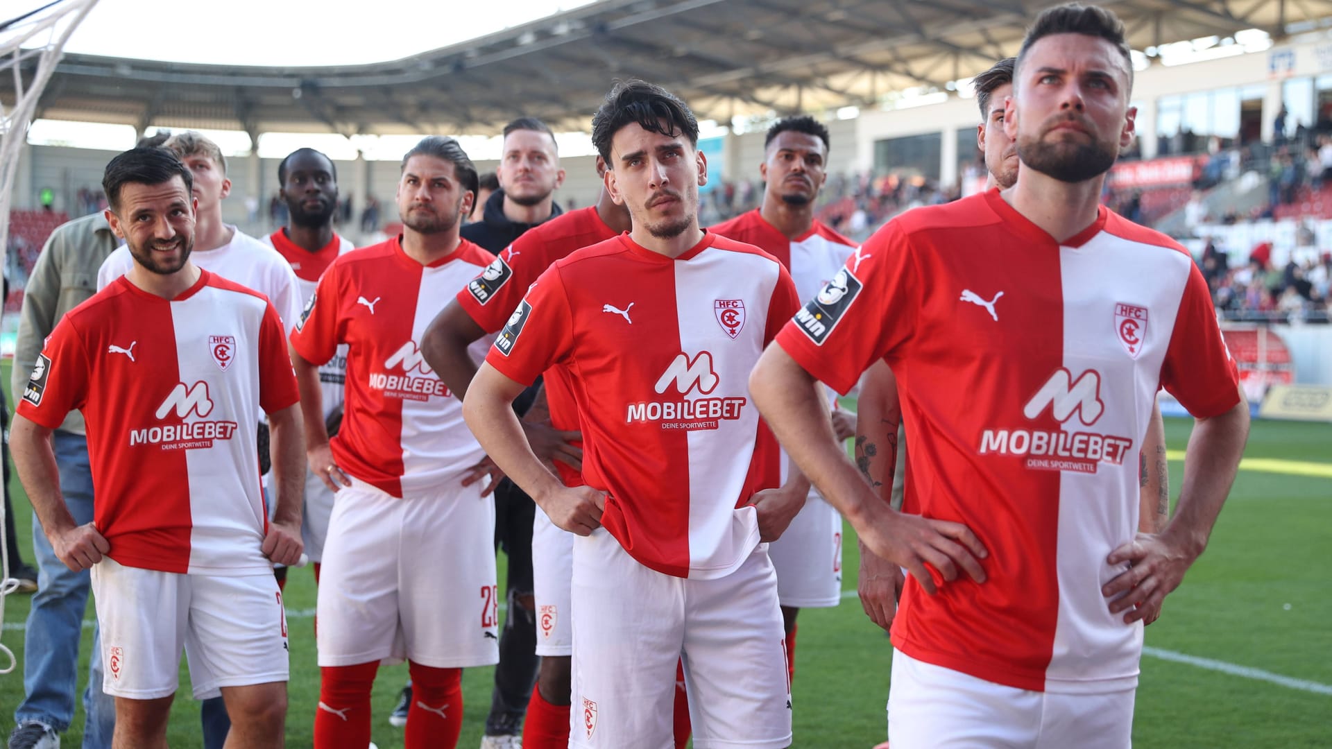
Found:
<path fill-rule="evenodd" d="M 1162 365 L 1162 386 L 1192 416 L 1207 418 L 1235 408 L 1239 384 L 1239 368 L 1221 337 L 1207 281 L 1191 263 Z"/>

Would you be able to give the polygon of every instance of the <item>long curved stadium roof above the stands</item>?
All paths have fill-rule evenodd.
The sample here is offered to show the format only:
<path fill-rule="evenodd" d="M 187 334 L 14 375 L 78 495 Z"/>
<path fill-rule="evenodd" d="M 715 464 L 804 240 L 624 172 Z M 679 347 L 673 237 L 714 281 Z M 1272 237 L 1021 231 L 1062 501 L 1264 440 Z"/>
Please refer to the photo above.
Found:
<path fill-rule="evenodd" d="M 1126 0 L 1135 49 L 1257 28 L 1323 28 L 1332 0 Z M 874 105 L 1016 53 L 1048 1 L 601 0 L 390 63 L 188 65 L 67 55 L 39 117 L 261 132 L 488 135 L 519 116 L 586 129 L 617 77 L 679 93 L 699 119 Z M 338 40 L 350 43 L 353 40 Z M 8 79 L 8 76 L 7 76 Z M 13 95 L 0 81 L 0 96 Z"/>

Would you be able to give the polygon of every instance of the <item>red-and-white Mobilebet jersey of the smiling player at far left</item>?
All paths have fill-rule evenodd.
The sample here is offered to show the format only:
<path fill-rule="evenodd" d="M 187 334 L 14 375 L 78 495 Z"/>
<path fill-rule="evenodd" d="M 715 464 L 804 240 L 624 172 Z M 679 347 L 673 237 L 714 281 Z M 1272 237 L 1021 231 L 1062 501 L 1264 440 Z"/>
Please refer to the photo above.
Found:
<path fill-rule="evenodd" d="M 208 271 L 173 300 L 117 279 L 47 339 L 19 414 L 88 422 L 97 529 L 111 558 L 174 573 L 258 574 L 266 530 L 256 421 L 297 402 L 277 311 Z"/>

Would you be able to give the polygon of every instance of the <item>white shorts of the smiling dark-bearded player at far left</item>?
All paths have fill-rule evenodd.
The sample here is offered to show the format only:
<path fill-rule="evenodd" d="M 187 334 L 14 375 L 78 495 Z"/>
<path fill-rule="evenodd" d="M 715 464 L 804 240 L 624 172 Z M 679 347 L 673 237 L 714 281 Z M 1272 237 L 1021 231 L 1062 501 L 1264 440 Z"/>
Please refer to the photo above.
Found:
<path fill-rule="evenodd" d="M 198 700 L 222 686 L 286 681 L 286 616 L 273 573 L 180 574 L 105 557 L 92 568 L 92 590 L 107 694 L 174 694 L 181 650 Z"/>

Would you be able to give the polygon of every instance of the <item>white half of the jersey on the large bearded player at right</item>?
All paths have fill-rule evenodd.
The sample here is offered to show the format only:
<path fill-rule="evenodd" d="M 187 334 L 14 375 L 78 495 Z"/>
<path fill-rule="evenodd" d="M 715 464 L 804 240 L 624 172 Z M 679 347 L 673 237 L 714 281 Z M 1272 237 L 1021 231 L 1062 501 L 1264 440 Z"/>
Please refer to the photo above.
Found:
<path fill-rule="evenodd" d="M 1060 248 L 1059 268 L 1064 300 L 1063 365 L 1070 378 L 1076 381 L 1083 373 L 1096 371 L 1103 402 L 1132 404 L 1131 409 L 1106 408 L 1095 426 L 1074 416 L 1060 428 L 1068 433 L 1120 434 L 1142 444 L 1188 281 L 1188 257 L 1102 232 L 1082 248 Z M 1154 283 L 1143 283 L 1144 268 L 1156 269 Z M 1136 359 L 1124 356 L 1119 343 L 1110 312 L 1119 303 L 1151 311 L 1146 343 Z M 1138 673 L 1143 628 L 1126 625 L 1123 614 L 1112 614 L 1100 594 L 1102 585 L 1127 569 L 1106 564 L 1118 545 L 1114 540 L 1130 541 L 1138 530 L 1138 502 L 1123 501 L 1139 492 L 1136 457 L 1126 456 L 1118 466 L 1103 462 L 1095 474 L 1076 470 L 1059 474 L 1059 616 L 1046 673 L 1047 684 L 1059 682 L 1059 692 L 1076 692 L 1079 684 L 1104 692 L 1106 680 L 1088 682 L 1088 673 L 1119 676 L 1132 686 Z M 1063 553 L 1066 548 L 1078 553 Z"/>

